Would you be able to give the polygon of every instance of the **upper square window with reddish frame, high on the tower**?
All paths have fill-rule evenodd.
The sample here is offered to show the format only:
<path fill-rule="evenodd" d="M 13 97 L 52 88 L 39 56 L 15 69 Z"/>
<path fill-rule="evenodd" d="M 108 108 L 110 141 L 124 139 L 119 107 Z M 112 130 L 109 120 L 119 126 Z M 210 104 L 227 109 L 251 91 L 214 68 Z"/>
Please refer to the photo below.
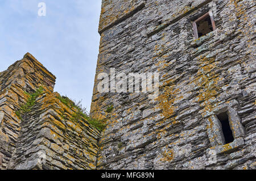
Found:
<path fill-rule="evenodd" d="M 193 22 L 193 31 L 195 39 L 207 35 L 207 33 L 216 30 L 216 25 L 213 19 L 212 11 L 207 12 L 207 14 L 201 16 L 199 19 Z"/>

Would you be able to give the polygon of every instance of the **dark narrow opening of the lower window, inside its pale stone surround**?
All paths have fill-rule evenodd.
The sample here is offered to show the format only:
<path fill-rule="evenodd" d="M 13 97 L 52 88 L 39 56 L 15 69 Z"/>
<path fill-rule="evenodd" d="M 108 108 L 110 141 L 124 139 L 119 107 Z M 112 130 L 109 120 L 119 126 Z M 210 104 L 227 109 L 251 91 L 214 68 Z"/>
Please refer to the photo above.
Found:
<path fill-rule="evenodd" d="M 225 143 L 229 144 L 234 141 L 233 133 L 229 125 L 229 115 L 227 112 L 220 113 L 217 115 L 218 120 L 220 120 L 222 126 L 222 132 L 225 138 Z"/>

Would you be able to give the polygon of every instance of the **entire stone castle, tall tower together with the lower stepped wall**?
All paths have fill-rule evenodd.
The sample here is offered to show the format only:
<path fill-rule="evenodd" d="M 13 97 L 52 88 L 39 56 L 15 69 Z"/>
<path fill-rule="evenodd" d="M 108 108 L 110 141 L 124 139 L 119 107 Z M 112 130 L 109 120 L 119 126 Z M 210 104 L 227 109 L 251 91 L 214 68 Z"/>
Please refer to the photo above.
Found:
<path fill-rule="evenodd" d="M 253 0 L 102 0 L 90 116 L 30 53 L 0 72 L 0 170 L 256 169 L 254 14 Z"/>

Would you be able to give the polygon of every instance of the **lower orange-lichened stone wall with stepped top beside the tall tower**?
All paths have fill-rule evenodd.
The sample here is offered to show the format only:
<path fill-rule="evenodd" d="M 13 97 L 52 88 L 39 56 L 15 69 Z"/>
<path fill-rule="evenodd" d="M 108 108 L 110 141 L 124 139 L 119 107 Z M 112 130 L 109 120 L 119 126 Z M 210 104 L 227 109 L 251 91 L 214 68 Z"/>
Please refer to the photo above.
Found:
<path fill-rule="evenodd" d="M 95 169 L 100 131 L 53 92 L 55 76 L 27 53 L 0 73 L 0 169 Z M 31 110 L 26 92 L 44 89 Z"/>

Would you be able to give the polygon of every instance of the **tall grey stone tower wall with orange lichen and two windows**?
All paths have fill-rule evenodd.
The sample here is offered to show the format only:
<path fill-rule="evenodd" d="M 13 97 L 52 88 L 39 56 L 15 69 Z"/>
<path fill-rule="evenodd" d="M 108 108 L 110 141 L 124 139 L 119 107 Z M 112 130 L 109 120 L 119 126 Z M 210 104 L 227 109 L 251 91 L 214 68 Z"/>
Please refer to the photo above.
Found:
<path fill-rule="evenodd" d="M 210 9 L 217 30 L 195 40 L 192 22 Z M 91 114 L 108 126 L 97 169 L 255 169 L 255 1 L 103 0 L 99 32 Z M 158 98 L 98 92 L 110 68 L 158 72 Z"/>

